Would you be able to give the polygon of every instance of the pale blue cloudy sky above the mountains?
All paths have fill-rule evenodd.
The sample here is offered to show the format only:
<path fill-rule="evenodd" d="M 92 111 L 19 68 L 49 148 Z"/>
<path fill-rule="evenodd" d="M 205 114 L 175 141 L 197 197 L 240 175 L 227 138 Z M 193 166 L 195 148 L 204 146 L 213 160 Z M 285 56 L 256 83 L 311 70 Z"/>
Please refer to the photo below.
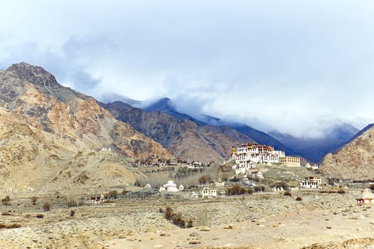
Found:
<path fill-rule="evenodd" d="M 1 1 L 0 68 L 318 137 L 374 122 L 374 1 Z"/>

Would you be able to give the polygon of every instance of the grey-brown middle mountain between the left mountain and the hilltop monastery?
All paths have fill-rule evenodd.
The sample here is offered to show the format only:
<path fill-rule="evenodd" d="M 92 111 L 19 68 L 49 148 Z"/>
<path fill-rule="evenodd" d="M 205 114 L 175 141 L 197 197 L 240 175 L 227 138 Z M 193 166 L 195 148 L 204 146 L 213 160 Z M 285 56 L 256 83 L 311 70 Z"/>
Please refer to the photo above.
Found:
<path fill-rule="evenodd" d="M 176 157 L 186 161 L 223 161 L 230 157 L 233 145 L 254 141 L 229 127 L 198 125 L 191 120 L 180 120 L 162 111 L 145 112 L 123 102 L 101 105 L 118 120 L 128 122 L 138 132 L 152 137 Z M 159 105 L 161 106 L 164 107 L 163 110 L 168 109 L 165 105 Z"/>

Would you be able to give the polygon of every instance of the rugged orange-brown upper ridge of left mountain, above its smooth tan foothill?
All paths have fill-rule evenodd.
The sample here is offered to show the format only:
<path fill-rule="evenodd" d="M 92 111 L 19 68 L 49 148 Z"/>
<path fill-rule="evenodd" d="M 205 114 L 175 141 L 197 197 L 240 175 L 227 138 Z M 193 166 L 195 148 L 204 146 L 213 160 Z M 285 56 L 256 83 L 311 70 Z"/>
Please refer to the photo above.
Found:
<path fill-rule="evenodd" d="M 0 102 L 19 120 L 63 138 L 71 149 L 111 147 L 142 160 L 172 157 L 154 140 L 115 120 L 92 97 L 58 84 L 41 67 L 19 63 L 1 70 Z"/>

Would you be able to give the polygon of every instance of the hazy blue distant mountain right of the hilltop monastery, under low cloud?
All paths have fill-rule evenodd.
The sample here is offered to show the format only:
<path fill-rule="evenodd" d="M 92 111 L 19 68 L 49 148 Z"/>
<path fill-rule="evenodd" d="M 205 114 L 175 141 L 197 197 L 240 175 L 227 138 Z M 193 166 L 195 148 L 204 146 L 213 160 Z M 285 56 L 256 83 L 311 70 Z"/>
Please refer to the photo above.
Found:
<path fill-rule="evenodd" d="M 291 147 L 301 157 L 314 163 L 321 163 L 323 157 L 346 144 L 358 129 L 350 124 L 341 123 L 328 127 L 321 138 L 294 137 L 290 134 L 270 132 L 271 137 L 278 139 L 287 147 Z"/>

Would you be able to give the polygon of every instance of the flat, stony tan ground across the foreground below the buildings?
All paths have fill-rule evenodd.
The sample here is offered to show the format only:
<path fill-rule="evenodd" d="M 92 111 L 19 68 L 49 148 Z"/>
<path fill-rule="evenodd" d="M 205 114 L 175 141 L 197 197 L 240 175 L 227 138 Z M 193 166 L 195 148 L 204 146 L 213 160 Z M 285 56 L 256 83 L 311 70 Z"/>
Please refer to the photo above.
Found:
<path fill-rule="evenodd" d="M 212 199 L 127 195 L 110 203 L 68 208 L 63 196 L 32 205 L 14 198 L 3 206 L 1 248 L 370 248 L 374 213 L 346 194 L 297 191 Z M 296 196 L 301 201 L 296 201 Z M 41 206 L 51 203 L 50 211 Z M 193 221 L 180 228 L 165 219 L 171 207 Z M 71 211 L 74 211 L 71 216 Z M 36 218 L 43 215 L 43 218 Z M 21 227 L 11 228 L 13 225 Z M 1 226 L 1 227 L 4 227 Z"/>

